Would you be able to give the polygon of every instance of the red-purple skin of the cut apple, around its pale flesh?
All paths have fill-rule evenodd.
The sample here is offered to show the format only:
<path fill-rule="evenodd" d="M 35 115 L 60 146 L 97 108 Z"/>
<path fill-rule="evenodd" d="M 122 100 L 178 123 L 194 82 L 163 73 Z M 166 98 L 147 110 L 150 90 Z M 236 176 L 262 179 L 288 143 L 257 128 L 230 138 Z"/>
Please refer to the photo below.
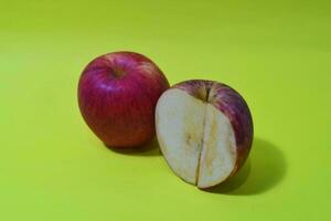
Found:
<path fill-rule="evenodd" d="M 201 92 L 206 90 L 209 92 L 206 102 L 220 109 L 229 119 L 235 133 L 237 150 L 235 169 L 229 176 L 232 177 L 244 165 L 253 144 L 254 127 L 247 103 L 234 88 L 214 81 L 190 80 L 172 87 L 202 99 Z"/>

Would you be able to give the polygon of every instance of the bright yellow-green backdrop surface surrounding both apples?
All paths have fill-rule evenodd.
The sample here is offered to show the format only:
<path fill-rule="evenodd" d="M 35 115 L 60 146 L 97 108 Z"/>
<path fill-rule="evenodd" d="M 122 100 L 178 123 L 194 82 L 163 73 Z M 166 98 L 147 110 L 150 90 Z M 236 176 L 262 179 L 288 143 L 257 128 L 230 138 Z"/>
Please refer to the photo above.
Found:
<path fill-rule="evenodd" d="M 0 1 L 0 220 L 331 220 L 328 1 Z M 224 82 L 252 109 L 244 169 L 206 192 L 158 150 L 116 152 L 76 88 L 95 56 Z"/>

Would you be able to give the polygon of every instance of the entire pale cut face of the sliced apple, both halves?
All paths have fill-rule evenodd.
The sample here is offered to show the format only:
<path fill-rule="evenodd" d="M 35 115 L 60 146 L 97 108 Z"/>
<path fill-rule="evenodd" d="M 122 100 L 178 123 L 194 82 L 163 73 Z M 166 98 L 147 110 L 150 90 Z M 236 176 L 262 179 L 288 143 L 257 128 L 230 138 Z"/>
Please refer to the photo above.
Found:
<path fill-rule="evenodd" d="M 199 188 L 215 186 L 235 169 L 235 135 L 228 118 L 207 101 L 179 90 L 160 97 L 157 135 L 171 169 Z"/>

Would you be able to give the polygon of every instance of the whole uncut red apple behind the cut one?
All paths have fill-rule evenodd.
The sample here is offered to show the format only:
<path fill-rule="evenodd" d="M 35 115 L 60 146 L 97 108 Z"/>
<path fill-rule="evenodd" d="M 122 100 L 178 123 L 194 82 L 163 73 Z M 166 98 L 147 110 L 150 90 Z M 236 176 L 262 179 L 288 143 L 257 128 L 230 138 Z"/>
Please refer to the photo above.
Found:
<path fill-rule="evenodd" d="M 93 60 L 78 83 L 78 105 L 94 134 L 109 147 L 136 147 L 156 134 L 154 109 L 169 88 L 161 70 L 135 52 Z"/>

